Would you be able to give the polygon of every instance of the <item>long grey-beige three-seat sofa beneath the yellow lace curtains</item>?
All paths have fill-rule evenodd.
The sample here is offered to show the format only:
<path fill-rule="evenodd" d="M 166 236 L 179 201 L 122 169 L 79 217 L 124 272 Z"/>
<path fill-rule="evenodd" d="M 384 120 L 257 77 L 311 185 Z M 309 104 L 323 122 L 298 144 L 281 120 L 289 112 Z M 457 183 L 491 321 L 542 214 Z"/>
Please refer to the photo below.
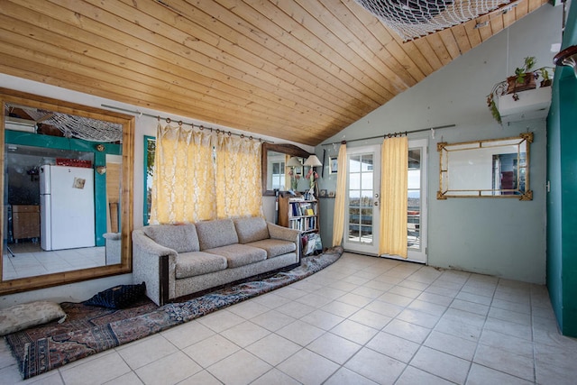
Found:
<path fill-rule="evenodd" d="M 133 281 L 157 305 L 300 262 L 299 232 L 261 217 L 133 231 Z"/>

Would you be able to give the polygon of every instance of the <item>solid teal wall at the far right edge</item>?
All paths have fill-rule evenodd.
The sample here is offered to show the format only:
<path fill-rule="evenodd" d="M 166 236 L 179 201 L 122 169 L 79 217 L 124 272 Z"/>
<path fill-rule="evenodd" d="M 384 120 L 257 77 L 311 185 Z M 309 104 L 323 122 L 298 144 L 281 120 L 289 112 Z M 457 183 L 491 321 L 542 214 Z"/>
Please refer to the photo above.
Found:
<path fill-rule="evenodd" d="M 577 5 L 569 10 L 563 48 L 577 44 Z M 577 79 L 558 67 L 547 121 L 547 288 L 563 335 L 577 337 Z"/>

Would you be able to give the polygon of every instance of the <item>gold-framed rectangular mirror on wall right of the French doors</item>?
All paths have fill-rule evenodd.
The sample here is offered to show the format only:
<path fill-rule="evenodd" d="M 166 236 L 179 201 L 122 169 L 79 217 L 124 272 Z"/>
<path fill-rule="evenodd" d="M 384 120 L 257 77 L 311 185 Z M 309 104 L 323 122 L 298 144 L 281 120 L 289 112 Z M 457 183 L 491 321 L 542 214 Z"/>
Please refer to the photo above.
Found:
<path fill-rule="evenodd" d="M 486 141 L 437 143 L 440 176 L 437 199 L 517 197 L 533 199 L 529 188 L 529 144 L 533 133 Z"/>

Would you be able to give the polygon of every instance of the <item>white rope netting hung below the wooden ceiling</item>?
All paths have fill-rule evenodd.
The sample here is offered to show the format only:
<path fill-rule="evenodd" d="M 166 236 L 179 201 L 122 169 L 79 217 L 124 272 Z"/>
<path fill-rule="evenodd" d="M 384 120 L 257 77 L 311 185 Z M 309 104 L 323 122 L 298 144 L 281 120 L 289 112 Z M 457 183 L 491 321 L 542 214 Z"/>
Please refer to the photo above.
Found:
<path fill-rule="evenodd" d="M 403 41 L 468 22 L 510 0 L 355 0 Z"/>

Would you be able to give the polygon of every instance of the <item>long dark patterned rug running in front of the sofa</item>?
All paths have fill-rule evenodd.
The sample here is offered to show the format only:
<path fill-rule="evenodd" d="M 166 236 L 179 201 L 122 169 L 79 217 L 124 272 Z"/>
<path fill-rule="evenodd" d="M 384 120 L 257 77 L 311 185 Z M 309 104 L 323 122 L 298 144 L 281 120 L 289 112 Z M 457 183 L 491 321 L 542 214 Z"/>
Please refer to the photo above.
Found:
<path fill-rule="evenodd" d="M 157 307 L 148 299 L 122 310 L 65 302 L 61 307 L 68 316 L 62 324 L 54 321 L 5 338 L 25 380 L 282 288 L 324 269 L 342 254 L 341 248 L 331 249 L 317 256 L 305 257 L 297 268 L 268 279 L 242 283 L 163 307 Z"/>

